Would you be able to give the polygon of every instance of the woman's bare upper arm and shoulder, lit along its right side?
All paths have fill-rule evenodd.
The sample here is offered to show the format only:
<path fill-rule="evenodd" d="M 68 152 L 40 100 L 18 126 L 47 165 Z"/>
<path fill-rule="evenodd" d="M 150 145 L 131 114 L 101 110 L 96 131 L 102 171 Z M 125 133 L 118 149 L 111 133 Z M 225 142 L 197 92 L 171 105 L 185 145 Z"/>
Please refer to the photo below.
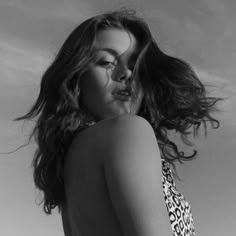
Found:
<path fill-rule="evenodd" d="M 109 129 L 104 155 L 110 199 L 126 236 L 171 236 L 164 202 L 160 153 L 151 125 L 119 118 Z"/>

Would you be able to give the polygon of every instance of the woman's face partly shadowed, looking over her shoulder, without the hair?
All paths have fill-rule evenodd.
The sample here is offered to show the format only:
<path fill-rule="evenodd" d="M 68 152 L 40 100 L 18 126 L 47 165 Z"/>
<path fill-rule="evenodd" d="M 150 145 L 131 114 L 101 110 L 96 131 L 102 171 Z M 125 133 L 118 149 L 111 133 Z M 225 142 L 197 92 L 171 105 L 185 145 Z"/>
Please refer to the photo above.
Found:
<path fill-rule="evenodd" d="M 80 102 L 97 121 L 122 114 L 137 114 L 143 90 L 132 70 L 138 56 L 138 42 L 122 29 L 99 31 L 95 41 L 95 60 L 81 78 Z M 120 89 L 131 89 L 130 97 L 119 96 Z M 135 95 L 136 94 L 136 95 Z"/>

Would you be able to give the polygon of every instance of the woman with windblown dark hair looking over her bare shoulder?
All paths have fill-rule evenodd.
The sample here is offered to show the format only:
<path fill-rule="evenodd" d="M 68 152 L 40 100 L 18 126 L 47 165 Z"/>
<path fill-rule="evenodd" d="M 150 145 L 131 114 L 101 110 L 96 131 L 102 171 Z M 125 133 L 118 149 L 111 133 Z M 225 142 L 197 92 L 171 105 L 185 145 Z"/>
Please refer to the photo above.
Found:
<path fill-rule="evenodd" d="M 43 75 L 31 110 L 34 181 L 44 211 L 58 207 L 66 236 L 195 235 L 171 166 L 183 141 L 209 121 L 218 98 L 184 61 L 160 50 L 134 11 L 80 24 Z M 176 174 L 176 173 L 175 173 Z M 176 175 L 177 176 L 177 175 Z"/>

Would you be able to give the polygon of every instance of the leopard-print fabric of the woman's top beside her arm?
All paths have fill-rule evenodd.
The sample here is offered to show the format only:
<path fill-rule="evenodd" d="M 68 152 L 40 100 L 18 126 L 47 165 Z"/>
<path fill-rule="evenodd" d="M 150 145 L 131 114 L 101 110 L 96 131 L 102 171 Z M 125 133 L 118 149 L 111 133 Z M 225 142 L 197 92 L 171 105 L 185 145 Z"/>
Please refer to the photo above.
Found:
<path fill-rule="evenodd" d="M 194 236 L 194 222 L 191 206 L 176 189 L 170 164 L 162 160 L 162 184 L 164 199 L 170 217 L 173 236 Z"/>

